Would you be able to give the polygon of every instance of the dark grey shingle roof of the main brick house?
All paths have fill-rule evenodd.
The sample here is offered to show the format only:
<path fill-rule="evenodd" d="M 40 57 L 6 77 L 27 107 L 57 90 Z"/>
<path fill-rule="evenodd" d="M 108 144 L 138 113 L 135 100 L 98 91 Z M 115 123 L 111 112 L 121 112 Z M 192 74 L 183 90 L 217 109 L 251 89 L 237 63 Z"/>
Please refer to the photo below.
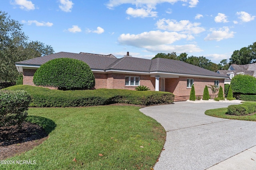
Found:
<path fill-rule="evenodd" d="M 184 63 L 178 60 L 156 58 L 141 59 L 135 57 L 125 56 L 121 59 L 106 57 L 105 55 L 96 55 L 90 53 L 66 53 L 60 52 L 44 57 L 37 57 L 34 59 L 17 62 L 16 64 L 28 65 L 42 65 L 47 61 L 57 58 L 72 58 L 84 61 L 91 69 L 99 70 L 124 70 L 135 72 L 168 72 L 177 74 L 190 74 L 200 76 L 216 76 L 227 77 L 226 75 L 218 74 L 216 72 L 206 70 L 204 68 L 194 66 L 192 64 Z"/>

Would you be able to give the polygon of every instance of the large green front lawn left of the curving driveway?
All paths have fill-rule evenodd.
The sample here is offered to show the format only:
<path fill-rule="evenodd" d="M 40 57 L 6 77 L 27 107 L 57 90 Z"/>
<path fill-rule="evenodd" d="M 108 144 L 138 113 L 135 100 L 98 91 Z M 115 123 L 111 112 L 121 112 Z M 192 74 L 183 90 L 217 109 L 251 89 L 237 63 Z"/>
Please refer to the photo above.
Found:
<path fill-rule="evenodd" d="M 138 109 L 29 108 L 28 119 L 46 128 L 49 137 L 38 147 L 8 159 L 35 160 L 36 164 L 2 164 L 0 169 L 150 170 L 164 146 L 166 132 Z"/>

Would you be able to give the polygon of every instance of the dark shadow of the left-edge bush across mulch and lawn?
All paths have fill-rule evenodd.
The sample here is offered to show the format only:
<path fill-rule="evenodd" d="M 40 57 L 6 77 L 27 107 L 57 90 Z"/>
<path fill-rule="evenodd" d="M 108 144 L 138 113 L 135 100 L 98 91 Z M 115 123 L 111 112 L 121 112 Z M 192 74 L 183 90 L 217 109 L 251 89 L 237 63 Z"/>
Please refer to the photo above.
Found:
<path fill-rule="evenodd" d="M 20 129 L 16 127 L 2 127 L 0 129 L 0 147 L 43 139 L 55 127 L 56 124 L 51 119 L 28 116 Z"/>

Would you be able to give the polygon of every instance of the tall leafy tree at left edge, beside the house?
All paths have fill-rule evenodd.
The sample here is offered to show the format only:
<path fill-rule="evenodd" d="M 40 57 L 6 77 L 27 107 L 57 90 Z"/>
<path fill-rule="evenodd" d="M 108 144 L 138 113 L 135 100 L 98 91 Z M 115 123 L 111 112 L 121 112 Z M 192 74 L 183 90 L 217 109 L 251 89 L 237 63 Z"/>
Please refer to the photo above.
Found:
<path fill-rule="evenodd" d="M 51 46 L 29 41 L 22 31 L 22 24 L 0 10 L 0 82 L 15 82 L 18 77 L 15 62 L 52 53 Z"/>

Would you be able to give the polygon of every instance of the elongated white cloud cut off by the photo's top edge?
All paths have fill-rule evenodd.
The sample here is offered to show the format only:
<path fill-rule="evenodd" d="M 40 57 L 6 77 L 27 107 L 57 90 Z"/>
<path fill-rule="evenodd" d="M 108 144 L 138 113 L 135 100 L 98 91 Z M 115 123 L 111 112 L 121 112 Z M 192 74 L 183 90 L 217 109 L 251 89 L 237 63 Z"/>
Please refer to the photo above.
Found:
<path fill-rule="evenodd" d="M 113 9 L 116 6 L 120 6 L 122 4 L 133 4 L 136 5 L 136 7 L 141 7 L 141 6 L 148 6 L 151 8 L 155 8 L 157 4 L 161 3 L 170 3 L 174 4 L 176 2 L 185 2 L 189 4 L 189 7 L 195 7 L 198 4 L 198 0 L 109 0 L 107 3 L 107 8 Z"/>

